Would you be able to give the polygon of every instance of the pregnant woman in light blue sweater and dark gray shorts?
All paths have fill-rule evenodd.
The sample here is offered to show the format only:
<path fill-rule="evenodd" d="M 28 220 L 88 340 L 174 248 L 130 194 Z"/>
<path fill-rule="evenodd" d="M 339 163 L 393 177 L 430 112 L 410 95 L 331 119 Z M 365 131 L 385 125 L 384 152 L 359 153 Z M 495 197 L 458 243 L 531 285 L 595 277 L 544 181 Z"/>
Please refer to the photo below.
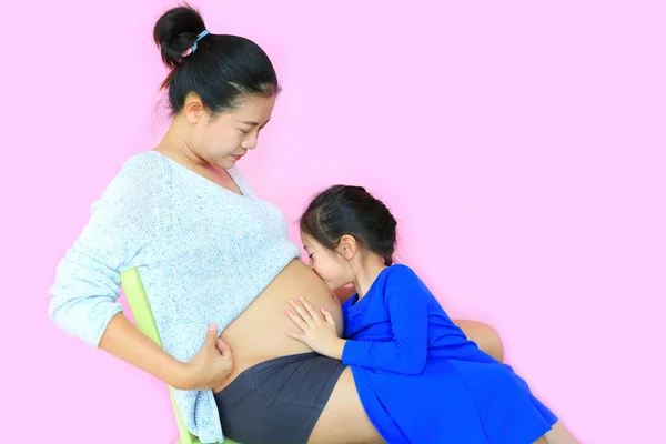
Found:
<path fill-rule="evenodd" d="M 235 168 L 256 148 L 280 92 L 270 59 L 248 39 L 210 33 L 189 7 L 164 13 L 154 39 L 171 68 L 163 88 L 173 121 L 93 204 L 58 268 L 51 319 L 172 385 L 203 443 L 223 434 L 250 444 L 382 442 L 351 371 L 285 336 L 291 321 L 276 315 L 307 295 L 342 333 L 340 305 L 299 260 L 283 214 Z M 117 302 L 120 273 L 132 268 L 164 350 Z M 492 329 L 458 325 L 502 357 Z"/>

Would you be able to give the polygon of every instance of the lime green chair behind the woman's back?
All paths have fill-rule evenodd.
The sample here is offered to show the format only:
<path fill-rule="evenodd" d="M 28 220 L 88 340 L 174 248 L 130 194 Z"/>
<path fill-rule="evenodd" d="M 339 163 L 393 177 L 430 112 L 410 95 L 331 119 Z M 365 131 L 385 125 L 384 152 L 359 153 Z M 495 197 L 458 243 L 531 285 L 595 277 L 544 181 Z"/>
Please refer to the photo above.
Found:
<path fill-rule="evenodd" d="M 143 334 L 153 340 L 158 345 L 162 346 L 160 333 L 158 332 L 158 325 L 155 324 L 155 319 L 150 310 L 148 296 L 145 295 L 145 289 L 143 287 L 143 283 L 141 283 L 141 276 L 139 276 L 137 269 L 122 272 L 120 274 L 120 282 L 122 283 L 122 289 L 130 304 L 130 309 L 132 310 L 132 314 L 134 315 L 134 322 L 137 323 L 137 326 L 139 330 L 141 330 L 141 332 L 143 332 Z M 171 394 L 173 413 L 175 414 L 175 421 L 178 423 L 178 430 L 180 433 L 180 440 L 175 444 L 201 444 L 201 441 L 199 441 L 199 438 L 191 434 L 188 427 L 185 427 L 185 423 L 183 422 L 180 410 L 175 404 L 173 390 L 171 387 L 169 387 L 169 393 Z M 224 438 L 224 444 L 239 443 L 231 441 L 230 438 Z"/>

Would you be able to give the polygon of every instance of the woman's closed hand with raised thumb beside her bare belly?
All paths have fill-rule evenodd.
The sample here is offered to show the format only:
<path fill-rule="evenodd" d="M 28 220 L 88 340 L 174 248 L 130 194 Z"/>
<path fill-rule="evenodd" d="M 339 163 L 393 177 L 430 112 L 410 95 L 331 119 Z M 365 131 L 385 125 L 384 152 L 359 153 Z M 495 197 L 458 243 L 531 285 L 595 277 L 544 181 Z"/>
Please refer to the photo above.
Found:
<path fill-rule="evenodd" d="M 229 345 L 218 337 L 215 324 L 209 325 L 203 347 L 186 367 L 186 390 L 213 390 L 229 377 L 233 370 L 233 355 Z"/>

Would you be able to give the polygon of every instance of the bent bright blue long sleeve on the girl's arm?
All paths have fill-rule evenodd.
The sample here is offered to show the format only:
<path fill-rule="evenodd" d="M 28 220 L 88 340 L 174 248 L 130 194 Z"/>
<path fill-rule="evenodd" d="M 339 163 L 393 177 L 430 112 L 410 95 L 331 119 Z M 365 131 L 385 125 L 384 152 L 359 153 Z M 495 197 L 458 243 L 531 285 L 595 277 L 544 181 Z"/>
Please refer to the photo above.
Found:
<path fill-rule="evenodd" d="M 342 362 L 394 373 L 420 374 L 427 360 L 430 294 L 411 269 L 394 265 L 385 282 L 393 340 L 346 341 Z"/>

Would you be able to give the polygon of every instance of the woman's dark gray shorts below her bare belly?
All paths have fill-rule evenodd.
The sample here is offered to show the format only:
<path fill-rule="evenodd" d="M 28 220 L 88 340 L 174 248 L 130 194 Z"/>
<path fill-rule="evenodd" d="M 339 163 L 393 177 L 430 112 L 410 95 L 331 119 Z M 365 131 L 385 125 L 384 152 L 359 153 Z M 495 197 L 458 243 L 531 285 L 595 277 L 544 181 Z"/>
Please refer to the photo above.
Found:
<path fill-rule="evenodd" d="M 317 353 L 278 357 L 215 393 L 224 436 L 243 444 L 306 444 L 345 365 Z"/>

